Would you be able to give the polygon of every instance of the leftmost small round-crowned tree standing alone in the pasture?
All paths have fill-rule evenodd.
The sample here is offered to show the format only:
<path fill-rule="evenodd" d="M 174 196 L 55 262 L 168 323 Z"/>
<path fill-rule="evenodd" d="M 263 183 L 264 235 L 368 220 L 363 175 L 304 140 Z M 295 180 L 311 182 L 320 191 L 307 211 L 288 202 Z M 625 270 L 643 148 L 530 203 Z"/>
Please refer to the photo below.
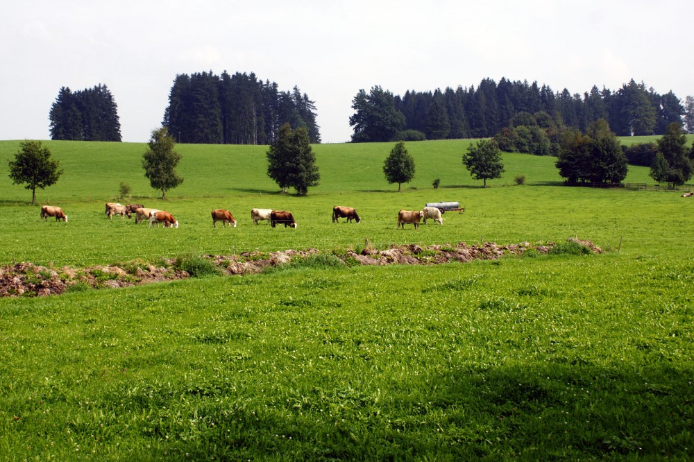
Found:
<path fill-rule="evenodd" d="M 15 160 L 10 160 L 10 178 L 13 185 L 26 183 L 25 188 L 31 189 L 31 203 L 36 203 L 36 188 L 44 189 L 58 181 L 62 170 L 60 163 L 51 159 L 49 148 L 41 146 L 41 142 L 25 141 L 19 144 Z"/>

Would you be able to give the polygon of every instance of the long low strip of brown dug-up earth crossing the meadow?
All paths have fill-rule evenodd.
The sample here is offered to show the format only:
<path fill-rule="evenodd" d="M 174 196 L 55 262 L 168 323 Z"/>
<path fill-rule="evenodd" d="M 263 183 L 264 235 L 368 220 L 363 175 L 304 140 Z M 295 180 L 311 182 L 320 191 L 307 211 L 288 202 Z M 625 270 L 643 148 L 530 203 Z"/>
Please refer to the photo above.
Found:
<path fill-rule="evenodd" d="M 602 253 L 602 249 L 591 241 L 575 241 L 593 253 Z M 346 264 L 390 265 L 390 264 L 444 264 L 448 262 L 470 262 L 480 259 L 498 259 L 505 255 L 523 255 L 527 250 L 548 253 L 554 247 L 552 242 L 531 244 L 527 242 L 499 246 L 497 243 L 485 242 L 468 245 L 459 242 L 454 245 L 441 244 L 418 246 L 417 244 L 391 246 L 378 250 L 367 246 L 357 253 L 348 250 L 344 253 L 330 253 Z M 307 250 L 281 250 L 278 252 L 246 252 L 239 255 L 208 255 L 215 266 L 226 275 L 246 275 L 261 273 L 270 266 L 280 266 L 300 261 L 321 252 L 314 248 Z M 162 260 L 154 265 L 142 260 L 134 260 L 119 265 L 90 266 L 88 268 L 46 268 L 32 263 L 22 262 L 0 268 L 0 297 L 49 296 L 59 295 L 71 286 L 93 287 L 96 289 L 115 289 L 117 287 L 149 284 L 185 279 L 189 274 L 175 268 L 176 260 Z"/>

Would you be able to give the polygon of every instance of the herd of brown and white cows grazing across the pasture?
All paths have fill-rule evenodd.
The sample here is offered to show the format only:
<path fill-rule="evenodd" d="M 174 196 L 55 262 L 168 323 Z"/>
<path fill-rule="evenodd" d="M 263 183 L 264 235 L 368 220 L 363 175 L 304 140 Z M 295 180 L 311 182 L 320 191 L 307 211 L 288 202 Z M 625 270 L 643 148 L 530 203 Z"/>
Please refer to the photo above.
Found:
<path fill-rule="evenodd" d="M 119 203 L 107 202 L 105 207 L 105 214 L 108 219 L 112 219 L 114 215 L 120 215 L 121 219 L 126 216 L 131 218 L 135 215 L 135 223 L 142 223 L 142 221 L 149 221 L 149 228 L 156 224 L 159 227 L 159 223 L 164 223 L 164 228 L 178 228 L 178 220 L 174 218 L 174 215 L 166 212 L 165 210 L 151 209 L 144 207 L 142 204 L 128 204 L 121 205 Z M 65 221 L 67 223 L 67 215 L 62 212 L 60 207 L 55 207 L 53 205 L 44 205 L 41 207 L 41 218 L 48 220 L 49 216 L 56 218 L 56 221 Z M 355 221 L 356 223 L 361 223 L 362 219 L 359 218 L 359 214 L 352 207 L 342 207 L 340 205 L 335 205 L 332 207 L 332 223 L 339 222 L 339 219 L 347 219 L 347 222 Z M 398 229 L 400 226 L 405 229 L 406 224 L 414 225 L 414 229 L 419 228 L 419 223 L 423 220 L 427 223 L 427 219 L 433 219 L 439 225 L 443 225 L 443 219 L 441 219 L 441 210 L 436 207 L 424 207 L 421 210 L 400 210 L 398 212 Z M 276 225 L 285 225 L 285 228 L 296 229 L 296 220 L 291 212 L 287 210 L 273 210 L 273 209 L 252 209 L 251 210 L 251 220 L 256 225 L 259 221 L 267 221 L 273 228 Z M 217 221 L 222 222 L 222 227 L 227 224 L 236 228 L 236 219 L 226 209 L 214 209 L 212 210 L 212 225 L 217 228 Z"/>

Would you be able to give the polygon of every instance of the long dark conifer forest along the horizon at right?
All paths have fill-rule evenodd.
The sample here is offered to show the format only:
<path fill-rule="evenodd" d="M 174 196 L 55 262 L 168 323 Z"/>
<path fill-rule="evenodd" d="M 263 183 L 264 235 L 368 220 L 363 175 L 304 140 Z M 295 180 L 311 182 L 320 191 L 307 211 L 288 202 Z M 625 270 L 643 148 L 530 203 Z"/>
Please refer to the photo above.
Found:
<path fill-rule="evenodd" d="M 688 132 L 694 132 L 691 96 L 685 106 L 672 91 L 661 95 L 633 79 L 616 91 L 593 86 L 584 94 L 506 78 L 403 96 L 376 85 L 369 93 L 359 90 L 352 108 L 352 142 L 493 137 L 521 112 L 546 113 L 557 126 L 581 132 L 603 119 L 618 136 L 663 135 L 670 123 L 682 125 L 684 116 Z"/>

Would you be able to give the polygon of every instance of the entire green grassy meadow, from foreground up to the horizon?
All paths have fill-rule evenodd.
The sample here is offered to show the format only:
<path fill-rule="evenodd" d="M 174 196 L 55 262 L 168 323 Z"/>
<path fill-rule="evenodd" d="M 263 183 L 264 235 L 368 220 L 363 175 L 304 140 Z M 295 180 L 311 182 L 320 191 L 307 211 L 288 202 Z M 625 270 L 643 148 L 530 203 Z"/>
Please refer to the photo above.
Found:
<path fill-rule="evenodd" d="M 144 178 L 144 144 L 45 142 L 65 174 L 37 198 L 69 223 L 40 221 L 31 191 L 0 176 L 0 264 L 329 252 L 366 239 L 577 236 L 608 251 L 442 266 L 314 259 L 0 299 L 0 459 L 691 459 L 694 199 L 563 187 L 553 158 L 519 154 L 482 189 L 462 166 L 470 142 L 408 143 L 417 173 L 401 193 L 383 178 L 391 144 L 314 146 L 321 185 L 301 198 L 267 178 L 264 146 L 181 145 L 185 182 L 166 201 Z M 0 164 L 17 146 L 0 142 Z M 121 181 L 180 228 L 105 219 Z M 627 182 L 652 180 L 629 166 Z M 396 230 L 399 209 L 437 200 L 466 212 Z M 331 223 L 333 205 L 362 223 Z M 217 207 L 237 228 L 212 228 Z M 252 207 L 289 209 L 298 228 L 253 225 Z"/>

